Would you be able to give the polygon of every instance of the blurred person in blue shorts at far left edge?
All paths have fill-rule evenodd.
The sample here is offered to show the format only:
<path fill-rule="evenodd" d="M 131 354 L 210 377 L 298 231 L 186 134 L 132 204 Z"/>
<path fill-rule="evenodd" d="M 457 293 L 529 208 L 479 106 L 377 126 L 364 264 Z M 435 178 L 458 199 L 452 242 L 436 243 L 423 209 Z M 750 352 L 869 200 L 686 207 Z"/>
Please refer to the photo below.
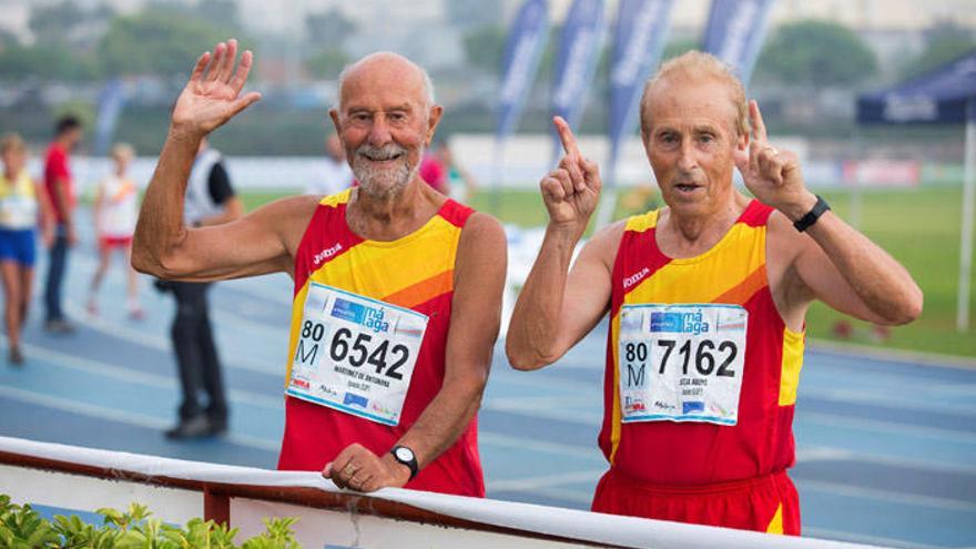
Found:
<path fill-rule="evenodd" d="M 0 277 L 3 281 L 3 318 L 9 346 L 8 360 L 23 364 L 20 328 L 27 321 L 34 277 L 34 227 L 41 227 L 50 246 L 54 220 L 43 190 L 27 173 L 27 145 L 10 133 L 0 140 Z"/>

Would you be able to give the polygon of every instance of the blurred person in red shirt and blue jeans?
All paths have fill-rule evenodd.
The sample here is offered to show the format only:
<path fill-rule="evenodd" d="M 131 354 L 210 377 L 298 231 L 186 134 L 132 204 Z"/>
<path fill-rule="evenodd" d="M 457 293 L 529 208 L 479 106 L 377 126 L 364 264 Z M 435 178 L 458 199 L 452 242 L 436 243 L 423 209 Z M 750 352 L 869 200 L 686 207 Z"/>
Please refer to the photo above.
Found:
<path fill-rule="evenodd" d="M 48 276 L 44 281 L 47 315 L 44 329 L 69 334 L 74 327 L 61 308 L 61 283 L 68 267 L 68 250 L 78 237 L 74 232 L 74 189 L 68 156 L 81 141 L 81 121 L 72 115 L 62 116 L 54 126 L 54 141 L 44 155 L 44 189 L 54 211 L 54 243 L 51 245 Z"/>

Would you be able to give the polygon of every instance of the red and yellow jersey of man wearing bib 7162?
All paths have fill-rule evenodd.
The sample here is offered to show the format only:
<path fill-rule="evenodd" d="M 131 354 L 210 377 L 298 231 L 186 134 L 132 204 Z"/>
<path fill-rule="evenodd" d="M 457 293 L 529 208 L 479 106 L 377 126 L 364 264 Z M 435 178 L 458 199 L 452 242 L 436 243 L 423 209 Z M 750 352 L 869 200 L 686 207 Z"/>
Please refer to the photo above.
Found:
<path fill-rule="evenodd" d="M 628 477 L 660 485 L 706 485 L 793 465 L 793 408 L 804 336 L 784 325 L 770 293 L 766 222 L 771 213 L 771 207 L 752 201 L 714 247 L 689 258 L 668 257 L 658 247 L 659 211 L 627 221 L 611 281 L 599 441 L 611 466 Z M 621 307 L 632 304 L 722 304 L 748 313 L 734 425 L 623 420 L 618 345 Z"/>

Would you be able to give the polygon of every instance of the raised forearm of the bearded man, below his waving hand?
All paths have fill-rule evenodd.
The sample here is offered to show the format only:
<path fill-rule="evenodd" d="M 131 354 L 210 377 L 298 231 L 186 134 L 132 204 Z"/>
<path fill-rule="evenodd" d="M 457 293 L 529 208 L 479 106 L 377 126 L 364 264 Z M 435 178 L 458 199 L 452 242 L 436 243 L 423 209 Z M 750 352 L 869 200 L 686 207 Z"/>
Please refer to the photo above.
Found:
<path fill-rule="evenodd" d="M 166 136 L 135 225 L 132 266 L 136 271 L 166 277 L 169 257 L 186 238 L 183 199 L 201 138 L 174 129 Z"/>

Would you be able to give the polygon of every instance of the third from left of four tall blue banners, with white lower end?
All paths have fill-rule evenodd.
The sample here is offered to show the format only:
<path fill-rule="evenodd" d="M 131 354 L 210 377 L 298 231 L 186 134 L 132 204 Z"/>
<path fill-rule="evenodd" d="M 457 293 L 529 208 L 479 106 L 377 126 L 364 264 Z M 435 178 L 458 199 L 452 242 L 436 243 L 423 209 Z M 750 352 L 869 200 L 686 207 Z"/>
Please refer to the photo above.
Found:
<path fill-rule="evenodd" d="M 644 81 L 651 75 L 671 26 L 672 0 L 620 0 L 610 68 L 610 157 L 608 185 L 597 215 L 604 226 L 617 203 L 617 157 L 622 140 L 633 132 Z"/>

